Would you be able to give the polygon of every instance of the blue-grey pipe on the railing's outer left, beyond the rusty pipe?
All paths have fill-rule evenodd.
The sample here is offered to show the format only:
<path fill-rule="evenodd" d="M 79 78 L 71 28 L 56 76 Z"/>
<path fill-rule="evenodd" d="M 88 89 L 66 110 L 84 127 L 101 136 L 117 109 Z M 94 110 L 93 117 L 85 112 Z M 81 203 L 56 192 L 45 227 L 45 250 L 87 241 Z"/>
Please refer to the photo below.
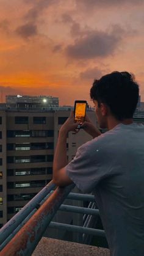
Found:
<path fill-rule="evenodd" d="M 45 188 L 41 189 L 38 194 L 33 197 L 29 203 L 27 203 L 18 213 L 13 216 L 10 221 L 8 221 L 2 228 L 0 232 L 0 244 L 7 238 L 13 230 L 18 227 L 18 225 L 27 217 L 29 213 L 31 213 L 34 208 L 39 207 L 39 203 L 43 198 L 51 191 L 52 189 L 56 188 L 56 185 L 53 183 L 53 181 L 50 181 Z"/>

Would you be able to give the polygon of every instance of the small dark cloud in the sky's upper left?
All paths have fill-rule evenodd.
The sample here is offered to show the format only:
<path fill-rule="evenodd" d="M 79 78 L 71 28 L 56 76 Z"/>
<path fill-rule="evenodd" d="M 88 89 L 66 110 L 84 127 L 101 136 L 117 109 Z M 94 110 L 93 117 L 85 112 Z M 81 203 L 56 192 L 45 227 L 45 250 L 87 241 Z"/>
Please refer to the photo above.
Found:
<path fill-rule="evenodd" d="M 23 38 L 33 37 L 34 35 L 38 34 L 37 25 L 31 23 L 27 23 L 20 27 L 17 27 L 15 32 Z"/>

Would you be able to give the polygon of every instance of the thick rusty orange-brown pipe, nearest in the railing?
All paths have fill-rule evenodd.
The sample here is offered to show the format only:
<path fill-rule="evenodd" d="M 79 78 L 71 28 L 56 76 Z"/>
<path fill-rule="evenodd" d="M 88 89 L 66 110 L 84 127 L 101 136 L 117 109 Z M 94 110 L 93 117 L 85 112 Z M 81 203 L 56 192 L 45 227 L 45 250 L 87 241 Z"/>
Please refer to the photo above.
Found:
<path fill-rule="evenodd" d="M 57 188 L 4 249 L 2 249 L 1 256 L 32 255 L 49 222 L 51 222 L 63 200 L 65 200 L 73 188 L 74 184 L 65 188 Z"/>

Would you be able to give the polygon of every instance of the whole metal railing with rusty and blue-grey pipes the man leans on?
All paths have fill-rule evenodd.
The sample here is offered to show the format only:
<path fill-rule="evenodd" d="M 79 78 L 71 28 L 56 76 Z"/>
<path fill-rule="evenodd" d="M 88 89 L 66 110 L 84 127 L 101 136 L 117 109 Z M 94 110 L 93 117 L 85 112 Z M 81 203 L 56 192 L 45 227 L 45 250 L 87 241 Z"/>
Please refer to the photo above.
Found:
<path fill-rule="evenodd" d="M 82 213 L 84 216 L 98 216 L 94 208 L 63 205 L 65 199 L 95 202 L 92 195 L 70 193 L 74 184 L 65 188 L 56 188 L 49 182 L 27 205 L 25 205 L 0 231 L 1 255 L 31 255 L 47 227 L 64 229 L 82 234 L 105 236 L 104 230 L 79 227 L 77 225 L 51 222 L 57 210 Z M 53 190 L 55 189 L 55 190 Z"/>

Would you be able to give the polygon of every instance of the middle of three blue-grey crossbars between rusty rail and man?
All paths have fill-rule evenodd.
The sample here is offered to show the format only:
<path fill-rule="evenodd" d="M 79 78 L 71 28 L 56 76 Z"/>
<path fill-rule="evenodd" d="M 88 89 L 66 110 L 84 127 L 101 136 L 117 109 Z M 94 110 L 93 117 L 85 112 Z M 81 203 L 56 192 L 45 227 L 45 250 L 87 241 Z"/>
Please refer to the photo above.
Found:
<path fill-rule="evenodd" d="M 61 205 L 59 208 L 60 211 L 71 211 L 73 213 L 82 213 L 82 214 L 91 214 L 91 215 L 98 215 L 98 209 L 88 209 L 85 207 L 74 207 L 71 205 Z"/>

